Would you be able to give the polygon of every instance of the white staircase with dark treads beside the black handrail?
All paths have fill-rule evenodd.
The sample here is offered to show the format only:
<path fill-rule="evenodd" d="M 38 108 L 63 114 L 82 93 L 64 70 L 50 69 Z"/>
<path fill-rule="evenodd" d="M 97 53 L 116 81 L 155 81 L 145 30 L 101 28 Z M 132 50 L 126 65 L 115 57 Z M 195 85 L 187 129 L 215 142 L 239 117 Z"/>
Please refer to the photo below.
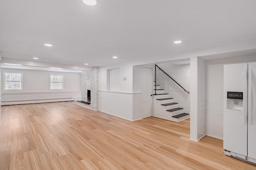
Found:
<path fill-rule="evenodd" d="M 164 93 L 164 89 L 160 88 L 160 85 L 156 85 L 154 82 L 154 94 L 153 101 L 153 116 L 170 121 L 182 121 L 189 118 L 188 113 L 184 113 L 184 109 L 178 106 L 178 103 L 174 102 L 173 98 L 169 97 L 168 93 Z"/>

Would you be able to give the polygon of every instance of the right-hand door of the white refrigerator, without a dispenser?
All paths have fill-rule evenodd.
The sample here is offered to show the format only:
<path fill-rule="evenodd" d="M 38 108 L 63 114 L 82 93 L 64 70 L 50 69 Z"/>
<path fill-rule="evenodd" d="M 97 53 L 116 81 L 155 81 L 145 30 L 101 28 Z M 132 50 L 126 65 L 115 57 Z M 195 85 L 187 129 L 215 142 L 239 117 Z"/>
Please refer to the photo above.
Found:
<path fill-rule="evenodd" d="M 248 63 L 248 157 L 256 159 L 256 63 Z"/>

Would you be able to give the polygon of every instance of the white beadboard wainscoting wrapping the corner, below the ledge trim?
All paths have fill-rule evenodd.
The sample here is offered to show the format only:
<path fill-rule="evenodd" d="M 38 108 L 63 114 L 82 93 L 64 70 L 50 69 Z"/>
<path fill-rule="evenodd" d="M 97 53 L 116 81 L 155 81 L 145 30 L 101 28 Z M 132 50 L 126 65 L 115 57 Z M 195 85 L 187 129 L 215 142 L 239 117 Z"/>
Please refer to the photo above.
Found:
<path fill-rule="evenodd" d="M 138 93 L 99 90 L 99 110 L 131 121 L 141 119 L 141 115 L 136 112 L 141 107 L 140 99 L 141 94 Z"/>

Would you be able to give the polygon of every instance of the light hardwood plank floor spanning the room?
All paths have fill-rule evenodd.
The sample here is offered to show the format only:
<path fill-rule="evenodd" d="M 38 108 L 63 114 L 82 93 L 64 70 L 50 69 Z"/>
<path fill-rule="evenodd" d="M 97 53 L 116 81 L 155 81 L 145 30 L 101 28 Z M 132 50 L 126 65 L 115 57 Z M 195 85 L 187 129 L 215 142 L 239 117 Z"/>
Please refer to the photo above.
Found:
<path fill-rule="evenodd" d="M 222 140 L 189 139 L 189 119 L 128 121 L 76 102 L 2 106 L 1 170 L 252 170 Z"/>

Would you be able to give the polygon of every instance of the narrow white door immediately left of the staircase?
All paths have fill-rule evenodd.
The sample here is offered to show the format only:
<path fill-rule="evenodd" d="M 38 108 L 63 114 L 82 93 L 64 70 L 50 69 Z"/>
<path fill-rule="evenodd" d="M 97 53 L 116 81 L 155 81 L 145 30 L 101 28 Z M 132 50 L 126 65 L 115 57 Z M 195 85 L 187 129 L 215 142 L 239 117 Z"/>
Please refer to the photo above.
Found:
<path fill-rule="evenodd" d="M 152 116 L 152 68 L 142 67 L 142 119 Z"/>

